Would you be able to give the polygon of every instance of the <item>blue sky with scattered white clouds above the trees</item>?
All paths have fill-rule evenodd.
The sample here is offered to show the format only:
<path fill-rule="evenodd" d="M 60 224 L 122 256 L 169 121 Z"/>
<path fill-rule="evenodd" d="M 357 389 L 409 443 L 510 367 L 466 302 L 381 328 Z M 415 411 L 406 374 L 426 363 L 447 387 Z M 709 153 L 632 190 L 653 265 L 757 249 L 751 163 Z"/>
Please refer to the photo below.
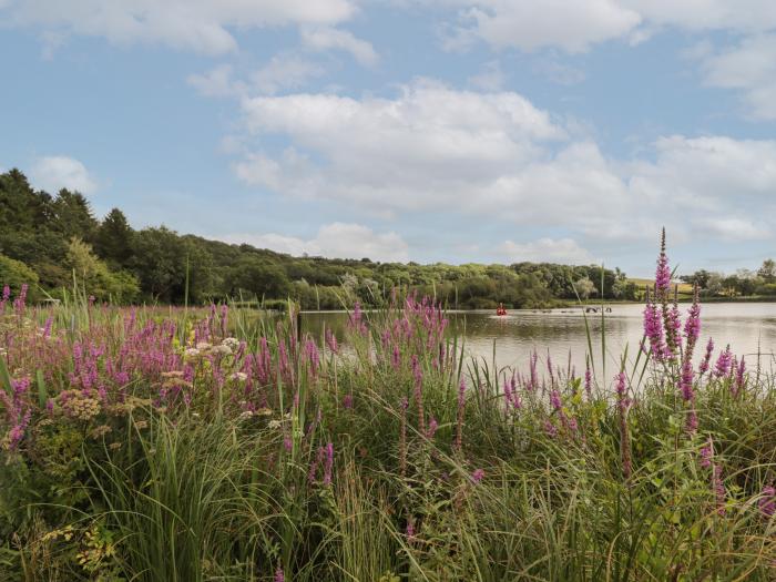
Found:
<path fill-rule="evenodd" d="M 0 0 L 0 169 L 300 255 L 776 255 L 772 0 Z"/>

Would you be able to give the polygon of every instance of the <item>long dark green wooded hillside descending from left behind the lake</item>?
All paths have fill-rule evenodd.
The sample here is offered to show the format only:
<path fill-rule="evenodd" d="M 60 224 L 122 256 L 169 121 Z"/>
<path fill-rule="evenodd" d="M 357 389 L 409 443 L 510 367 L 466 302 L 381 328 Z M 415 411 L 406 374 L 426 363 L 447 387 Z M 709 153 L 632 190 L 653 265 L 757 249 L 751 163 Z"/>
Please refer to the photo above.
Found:
<path fill-rule="evenodd" d="M 37 299 L 81 285 L 99 300 L 191 305 L 242 298 L 305 309 L 381 305 L 391 289 L 436 296 L 449 307 L 547 307 L 601 296 L 635 299 L 620 269 L 595 265 L 380 263 L 369 258 L 293 257 L 251 245 L 181 235 L 165 226 L 134 229 L 119 208 L 98 219 L 78 192 L 31 187 L 19 170 L 0 174 L 0 283 L 30 284 Z"/>

